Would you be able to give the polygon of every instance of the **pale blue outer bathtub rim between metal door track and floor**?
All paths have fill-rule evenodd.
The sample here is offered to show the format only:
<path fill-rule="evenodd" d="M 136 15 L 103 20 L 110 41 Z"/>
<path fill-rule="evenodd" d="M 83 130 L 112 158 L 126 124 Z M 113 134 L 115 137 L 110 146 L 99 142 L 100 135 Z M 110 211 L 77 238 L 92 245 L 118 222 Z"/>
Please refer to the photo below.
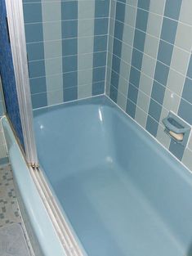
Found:
<path fill-rule="evenodd" d="M 38 188 L 33 181 L 31 173 L 33 172 L 33 169 L 29 168 L 26 164 L 25 157 L 20 150 L 20 146 L 16 141 L 16 137 L 14 136 L 14 132 L 12 131 L 6 116 L 2 116 L 1 123 L 6 142 L 7 144 L 11 143 L 10 146 L 7 146 L 7 150 L 9 152 L 16 190 L 20 192 L 20 200 L 22 200 L 22 203 L 25 205 L 29 224 L 38 241 L 38 245 L 32 244 L 33 251 L 35 251 L 34 246 L 38 246 L 38 250 L 41 253 L 37 256 L 52 256 L 54 254 L 58 256 L 66 256 L 65 249 L 60 243 L 55 227 L 53 226 L 51 218 L 47 213 L 47 209 L 39 195 Z M 9 137 L 7 137 L 6 132 Z M 19 172 L 18 169 L 20 169 Z"/>

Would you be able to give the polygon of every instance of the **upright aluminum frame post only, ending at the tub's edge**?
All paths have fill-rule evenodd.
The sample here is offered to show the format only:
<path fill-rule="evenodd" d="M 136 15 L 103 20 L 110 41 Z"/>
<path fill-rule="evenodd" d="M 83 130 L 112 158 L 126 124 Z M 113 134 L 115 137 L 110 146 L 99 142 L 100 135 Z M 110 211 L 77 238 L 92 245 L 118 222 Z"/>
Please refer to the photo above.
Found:
<path fill-rule="evenodd" d="M 29 89 L 22 0 L 6 0 L 6 9 L 20 120 L 25 143 L 25 156 L 29 165 L 38 166 L 38 155 L 33 132 L 33 110 Z"/>

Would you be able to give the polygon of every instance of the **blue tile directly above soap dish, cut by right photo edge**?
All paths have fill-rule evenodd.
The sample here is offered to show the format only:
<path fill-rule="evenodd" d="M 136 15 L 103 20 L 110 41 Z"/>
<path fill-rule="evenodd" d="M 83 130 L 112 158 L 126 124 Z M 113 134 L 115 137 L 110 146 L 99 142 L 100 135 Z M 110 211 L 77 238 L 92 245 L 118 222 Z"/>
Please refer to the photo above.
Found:
<path fill-rule="evenodd" d="M 178 115 L 187 123 L 192 124 L 192 104 L 181 98 Z"/>

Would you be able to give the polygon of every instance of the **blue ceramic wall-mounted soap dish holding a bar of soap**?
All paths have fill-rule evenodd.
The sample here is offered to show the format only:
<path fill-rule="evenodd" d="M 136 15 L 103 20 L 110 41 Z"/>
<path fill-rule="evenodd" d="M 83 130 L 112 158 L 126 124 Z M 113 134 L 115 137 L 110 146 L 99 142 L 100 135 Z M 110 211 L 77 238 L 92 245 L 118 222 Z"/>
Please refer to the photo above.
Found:
<path fill-rule="evenodd" d="M 190 136 L 190 125 L 186 124 L 181 118 L 172 112 L 169 112 L 168 116 L 163 119 L 165 126 L 164 132 L 166 132 L 174 141 L 186 146 L 188 138 Z"/>

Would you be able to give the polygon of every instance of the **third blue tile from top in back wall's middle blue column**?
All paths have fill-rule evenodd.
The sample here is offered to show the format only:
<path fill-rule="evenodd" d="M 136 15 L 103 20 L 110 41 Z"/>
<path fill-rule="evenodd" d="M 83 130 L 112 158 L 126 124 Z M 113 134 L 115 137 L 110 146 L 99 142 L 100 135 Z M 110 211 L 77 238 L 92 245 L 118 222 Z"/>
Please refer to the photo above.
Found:
<path fill-rule="evenodd" d="M 65 39 L 62 41 L 62 53 L 63 56 L 78 54 L 78 39 Z"/>

